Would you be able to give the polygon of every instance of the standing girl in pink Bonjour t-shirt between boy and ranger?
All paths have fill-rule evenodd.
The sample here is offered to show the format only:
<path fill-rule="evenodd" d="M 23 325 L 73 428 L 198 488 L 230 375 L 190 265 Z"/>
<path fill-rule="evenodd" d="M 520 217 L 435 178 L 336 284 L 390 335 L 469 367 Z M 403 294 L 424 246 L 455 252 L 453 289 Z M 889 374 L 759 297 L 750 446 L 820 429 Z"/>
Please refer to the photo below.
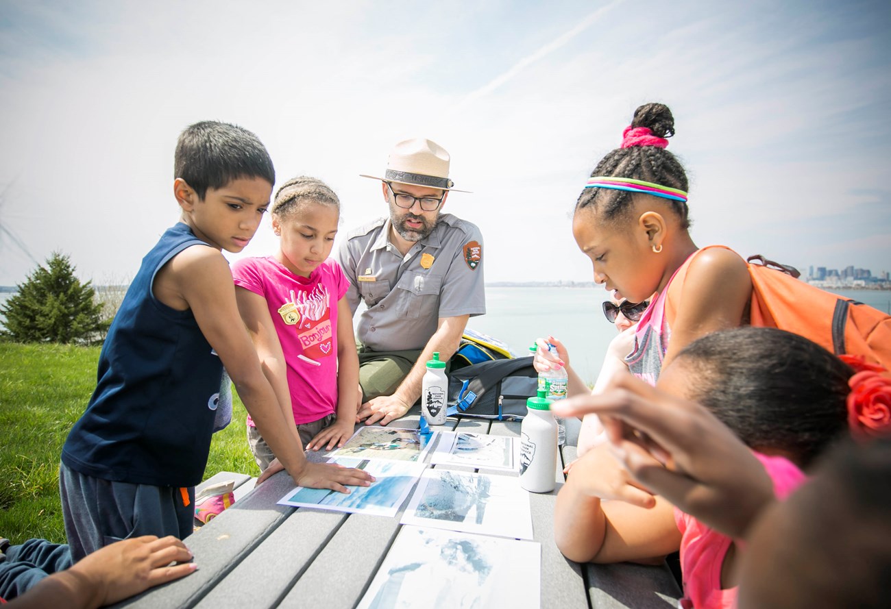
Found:
<path fill-rule="evenodd" d="M 270 211 L 278 251 L 233 264 L 241 318 L 300 442 L 330 450 L 353 434 L 359 401 L 347 278 L 328 257 L 340 202 L 321 180 L 297 177 L 275 193 Z M 274 455 L 250 417 L 248 440 L 266 469 Z"/>

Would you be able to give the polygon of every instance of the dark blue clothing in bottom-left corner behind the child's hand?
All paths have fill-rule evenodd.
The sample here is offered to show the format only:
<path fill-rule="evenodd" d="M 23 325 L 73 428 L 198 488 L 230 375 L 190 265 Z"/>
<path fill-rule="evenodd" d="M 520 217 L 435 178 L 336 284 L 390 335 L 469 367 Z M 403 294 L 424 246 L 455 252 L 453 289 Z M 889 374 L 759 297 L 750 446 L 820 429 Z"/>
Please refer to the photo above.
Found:
<path fill-rule="evenodd" d="M 11 601 L 34 588 L 47 575 L 71 566 L 66 545 L 47 540 L 28 540 L 0 554 L 0 598 Z"/>

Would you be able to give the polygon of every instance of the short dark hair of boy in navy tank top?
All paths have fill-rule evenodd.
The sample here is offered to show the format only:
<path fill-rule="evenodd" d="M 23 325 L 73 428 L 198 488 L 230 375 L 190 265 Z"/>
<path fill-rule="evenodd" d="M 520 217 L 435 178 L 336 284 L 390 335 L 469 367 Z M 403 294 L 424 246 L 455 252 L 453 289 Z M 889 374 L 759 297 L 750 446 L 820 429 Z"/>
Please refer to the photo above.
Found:
<path fill-rule="evenodd" d="M 259 177 L 275 183 L 275 169 L 266 147 L 247 129 L 206 120 L 179 134 L 174 179 L 183 178 L 204 199 L 208 188 L 223 188 L 239 178 Z"/>

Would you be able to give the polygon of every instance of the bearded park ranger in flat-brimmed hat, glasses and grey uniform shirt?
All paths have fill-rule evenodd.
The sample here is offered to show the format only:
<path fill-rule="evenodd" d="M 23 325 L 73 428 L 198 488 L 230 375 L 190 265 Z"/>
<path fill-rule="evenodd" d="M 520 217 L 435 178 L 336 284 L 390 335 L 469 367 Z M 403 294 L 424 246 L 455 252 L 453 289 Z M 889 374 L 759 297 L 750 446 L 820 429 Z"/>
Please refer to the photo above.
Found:
<path fill-rule="evenodd" d="M 352 231 L 337 259 L 349 280 L 353 314 L 360 301 L 358 418 L 387 425 L 421 396 L 426 362 L 457 350 L 467 321 L 486 313 L 483 237 L 477 226 L 443 214 L 449 154 L 436 142 L 399 142 L 380 189 L 389 217 Z M 459 191 L 466 192 L 466 191 Z"/>

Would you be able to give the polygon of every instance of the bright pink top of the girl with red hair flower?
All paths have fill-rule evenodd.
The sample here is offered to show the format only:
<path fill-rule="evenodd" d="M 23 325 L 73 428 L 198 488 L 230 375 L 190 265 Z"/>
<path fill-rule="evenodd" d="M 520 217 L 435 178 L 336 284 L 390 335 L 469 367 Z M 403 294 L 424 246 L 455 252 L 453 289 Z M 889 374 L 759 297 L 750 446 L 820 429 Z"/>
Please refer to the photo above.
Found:
<path fill-rule="evenodd" d="M 805 475 L 789 459 L 767 457 L 754 452 L 773 481 L 778 499 L 805 482 Z M 695 609 L 733 609 L 737 588 L 721 589 L 721 566 L 732 539 L 701 524 L 696 518 L 674 508 L 674 522 L 681 531 L 681 572 L 683 595 L 681 607 Z"/>

